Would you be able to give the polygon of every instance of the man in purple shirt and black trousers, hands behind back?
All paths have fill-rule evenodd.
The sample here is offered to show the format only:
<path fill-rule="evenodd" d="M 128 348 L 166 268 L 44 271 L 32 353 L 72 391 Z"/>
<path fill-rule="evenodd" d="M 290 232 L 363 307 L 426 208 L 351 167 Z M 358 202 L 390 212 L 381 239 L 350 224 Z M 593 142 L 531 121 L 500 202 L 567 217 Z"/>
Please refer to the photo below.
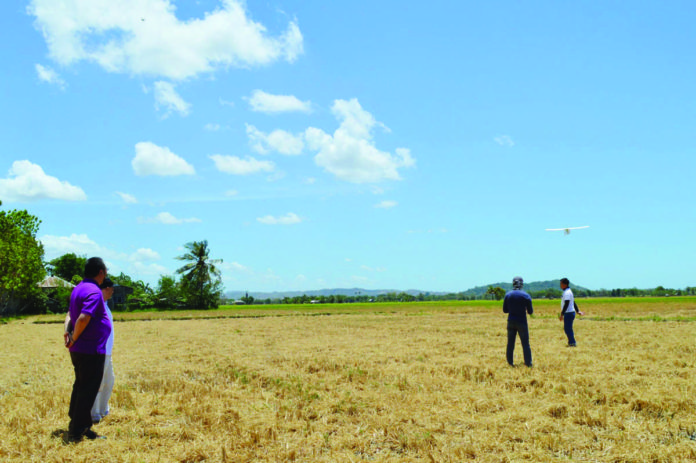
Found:
<path fill-rule="evenodd" d="M 70 295 L 72 331 L 64 334 L 65 347 L 75 369 L 75 382 L 70 396 L 70 427 L 67 442 L 102 438 L 92 431 L 92 405 L 104 374 L 106 343 L 111 334 L 111 320 L 104 309 L 99 285 L 106 278 L 106 265 L 99 257 L 85 264 L 84 280 Z"/>

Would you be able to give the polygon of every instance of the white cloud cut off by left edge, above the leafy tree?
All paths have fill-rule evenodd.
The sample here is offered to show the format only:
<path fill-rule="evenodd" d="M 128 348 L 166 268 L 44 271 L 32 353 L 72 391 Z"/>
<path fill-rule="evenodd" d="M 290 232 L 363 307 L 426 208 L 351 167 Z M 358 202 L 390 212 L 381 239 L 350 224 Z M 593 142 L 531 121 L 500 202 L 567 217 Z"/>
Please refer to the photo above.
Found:
<path fill-rule="evenodd" d="M 29 161 L 15 161 L 8 177 L 0 179 L 0 200 L 29 202 L 41 199 L 84 201 L 87 195 L 80 187 L 47 175 L 41 166 Z"/>

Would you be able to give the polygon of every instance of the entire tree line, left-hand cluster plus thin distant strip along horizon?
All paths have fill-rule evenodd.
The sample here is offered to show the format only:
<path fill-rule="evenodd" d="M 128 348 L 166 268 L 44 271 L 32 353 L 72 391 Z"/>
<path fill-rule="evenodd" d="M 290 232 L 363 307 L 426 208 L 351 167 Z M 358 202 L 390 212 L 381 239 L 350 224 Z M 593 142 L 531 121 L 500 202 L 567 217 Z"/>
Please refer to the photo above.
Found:
<path fill-rule="evenodd" d="M 0 201 L 2 205 L 2 201 Z M 49 262 L 44 261 L 44 248 L 36 234 L 41 220 L 25 210 L 0 211 L 0 317 L 18 314 L 41 314 L 65 312 L 68 307 L 71 289 L 52 288 L 43 290 L 38 286 L 46 275 L 57 276 L 77 284 L 87 256 L 67 253 Z M 219 304 L 236 303 L 223 297 L 223 286 L 218 265 L 220 259 L 210 257 L 206 240 L 193 241 L 184 245 L 185 253 L 177 257 L 184 265 L 176 270 L 176 275 L 161 275 L 157 285 L 151 287 L 142 280 L 135 280 L 125 273 L 110 275 L 115 284 L 132 289 L 126 304 L 116 304 L 115 310 L 140 309 L 210 309 Z M 179 276 L 179 278 L 177 278 Z M 576 297 L 665 297 L 693 296 L 696 287 L 684 289 L 658 286 L 652 289 L 615 288 L 589 290 L 573 289 Z M 472 293 L 452 292 L 447 294 L 390 292 L 376 296 L 355 295 L 316 295 L 284 297 L 276 299 L 255 299 L 248 294 L 242 297 L 244 304 L 350 304 L 371 302 L 415 302 L 451 300 L 500 300 L 506 290 L 500 286 Z M 561 291 L 546 288 L 528 291 L 534 299 L 557 299 Z"/>

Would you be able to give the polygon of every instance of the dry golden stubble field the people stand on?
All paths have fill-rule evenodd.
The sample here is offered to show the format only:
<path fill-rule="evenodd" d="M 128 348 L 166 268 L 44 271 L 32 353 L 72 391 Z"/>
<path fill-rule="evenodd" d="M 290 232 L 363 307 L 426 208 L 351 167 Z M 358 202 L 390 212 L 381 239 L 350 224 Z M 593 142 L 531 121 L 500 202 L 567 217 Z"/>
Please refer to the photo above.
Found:
<path fill-rule="evenodd" d="M 108 440 L 68 446 L 62 317 L 13 320 L 0 461 L 696 460 L 696 298 L 579 302 L 575 349 L 535 304 L 533 369 L 501 303 L 116 314 Z"/>

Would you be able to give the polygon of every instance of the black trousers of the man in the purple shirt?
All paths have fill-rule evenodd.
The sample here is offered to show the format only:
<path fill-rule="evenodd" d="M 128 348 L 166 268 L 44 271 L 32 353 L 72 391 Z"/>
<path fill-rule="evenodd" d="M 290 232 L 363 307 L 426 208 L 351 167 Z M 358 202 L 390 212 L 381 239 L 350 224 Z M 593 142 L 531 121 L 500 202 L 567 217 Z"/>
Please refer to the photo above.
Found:
<path fill-rule="evenodd" d="M 104 354 L 81 354 L 71 352 L 70 359 L 75 368 L 75 383 L 70 396 L 70 428 L 68 434 L 78 438 L 92 427 L 92 405 L 99 393 L 104 375 Z"/>

